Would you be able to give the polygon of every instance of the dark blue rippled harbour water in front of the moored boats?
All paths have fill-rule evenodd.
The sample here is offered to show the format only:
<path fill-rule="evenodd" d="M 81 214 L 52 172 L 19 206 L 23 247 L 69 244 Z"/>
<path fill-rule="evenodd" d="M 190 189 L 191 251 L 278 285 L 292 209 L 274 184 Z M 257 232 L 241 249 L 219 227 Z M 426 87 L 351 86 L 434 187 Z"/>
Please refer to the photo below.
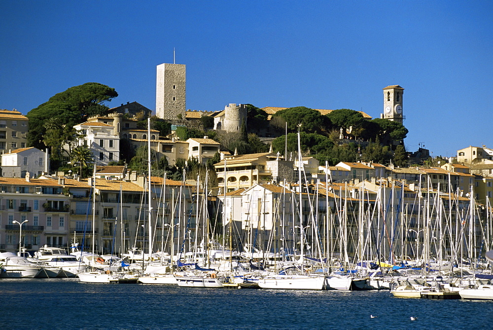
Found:
<path fill-rule="evenodd" d="M 226 290 L 0 279 L 0 299 L 0 329 L 493 328 L 492 301 L 394 298 L 388 291 Z M 411 316 L 418 320 L 411 321 Z"/>

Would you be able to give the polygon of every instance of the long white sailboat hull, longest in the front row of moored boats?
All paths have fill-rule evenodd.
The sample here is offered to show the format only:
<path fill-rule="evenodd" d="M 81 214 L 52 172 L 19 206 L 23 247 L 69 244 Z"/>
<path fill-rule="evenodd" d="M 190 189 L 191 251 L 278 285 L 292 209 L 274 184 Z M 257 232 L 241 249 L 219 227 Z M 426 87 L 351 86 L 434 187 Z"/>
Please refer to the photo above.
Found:
<path fill-rule="evenodd" d="M 322 290 L 325 285 L 324 276 L 310 275 L 274 275 L 258 280 L 261 289 L 277 290 Z"/>

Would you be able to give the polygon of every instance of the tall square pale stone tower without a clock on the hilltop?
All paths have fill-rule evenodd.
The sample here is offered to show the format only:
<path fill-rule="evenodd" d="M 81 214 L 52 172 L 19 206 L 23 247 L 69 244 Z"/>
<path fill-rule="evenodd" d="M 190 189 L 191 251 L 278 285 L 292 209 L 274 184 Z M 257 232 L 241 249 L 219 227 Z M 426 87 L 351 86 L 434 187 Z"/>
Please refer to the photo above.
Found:
<path fill-rule="evenodd" d="M 156 116 L 185 119 L 186 65 L 160 64 L 156 68 Z"/>

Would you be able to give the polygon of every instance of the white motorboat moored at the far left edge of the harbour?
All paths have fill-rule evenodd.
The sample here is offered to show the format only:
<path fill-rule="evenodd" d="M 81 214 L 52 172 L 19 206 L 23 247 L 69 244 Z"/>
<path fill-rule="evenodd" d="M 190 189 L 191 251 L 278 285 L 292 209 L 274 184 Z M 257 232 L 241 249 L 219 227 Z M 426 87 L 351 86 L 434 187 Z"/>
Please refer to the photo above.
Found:
<path fill-rule="evenodd" d="M 0 277 L 33 278 L 43 270 L 39 264 L 11 252 L 0 253 L 0 264 L 2 265 Z"/>

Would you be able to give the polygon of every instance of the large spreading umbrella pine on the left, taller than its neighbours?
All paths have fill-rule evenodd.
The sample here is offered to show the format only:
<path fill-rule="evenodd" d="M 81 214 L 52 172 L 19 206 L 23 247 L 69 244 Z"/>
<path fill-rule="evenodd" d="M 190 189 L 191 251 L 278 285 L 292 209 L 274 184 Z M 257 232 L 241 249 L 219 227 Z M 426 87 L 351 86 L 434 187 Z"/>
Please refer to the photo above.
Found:
<path fill-rule="evenodd" d="M 64 92 L 52 96 L 47 102 L 29 111 L 28 145 L 44 149 L 43 127 L 49 118 L 58 118 L 60 123 L 73 126 L 84 122 L 88 116 L 106 114 L 105 102 L 117 97 L 114 88 L 96 82 L 70 87 Z"/>

